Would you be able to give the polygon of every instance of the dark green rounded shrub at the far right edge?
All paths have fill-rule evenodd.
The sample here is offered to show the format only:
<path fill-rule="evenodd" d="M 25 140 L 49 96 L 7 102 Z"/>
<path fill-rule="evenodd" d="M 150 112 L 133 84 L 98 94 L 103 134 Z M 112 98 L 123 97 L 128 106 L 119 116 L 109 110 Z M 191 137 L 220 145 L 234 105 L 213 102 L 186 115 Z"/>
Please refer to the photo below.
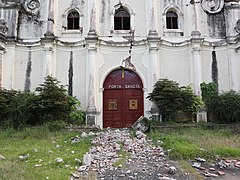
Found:
<path fill-rule="evenodd" d="M 218 122 L 240 122 L 240 93 L 232 90 L 214 96 L 208 102 L 208 109 Z"/>

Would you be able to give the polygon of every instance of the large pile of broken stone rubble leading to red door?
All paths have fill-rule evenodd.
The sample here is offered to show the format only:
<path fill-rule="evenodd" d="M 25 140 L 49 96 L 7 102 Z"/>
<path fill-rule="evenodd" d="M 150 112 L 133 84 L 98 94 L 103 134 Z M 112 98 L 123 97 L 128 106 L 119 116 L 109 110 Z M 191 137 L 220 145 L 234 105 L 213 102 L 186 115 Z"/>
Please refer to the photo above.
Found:
<path fill-rule="evenodd" d="M 174 180 L 179 174 L 187 180 L 172 161 L 167 160 L 161 147 L 154 146 L 152 140 L 141 131 L 132 137 L 127 129 L 108 129 L 96 133 L 92 148 L 83 157 L 83 162 L 72 173 L 72 179 L 94 171 L 98 179 L 162 179 Z M 127 157 L 121 157 L 121 152 Z M 123 158 L 124 164 L 118 164 Z M 178 178 L 177 178 L 178 179 Z"/>

